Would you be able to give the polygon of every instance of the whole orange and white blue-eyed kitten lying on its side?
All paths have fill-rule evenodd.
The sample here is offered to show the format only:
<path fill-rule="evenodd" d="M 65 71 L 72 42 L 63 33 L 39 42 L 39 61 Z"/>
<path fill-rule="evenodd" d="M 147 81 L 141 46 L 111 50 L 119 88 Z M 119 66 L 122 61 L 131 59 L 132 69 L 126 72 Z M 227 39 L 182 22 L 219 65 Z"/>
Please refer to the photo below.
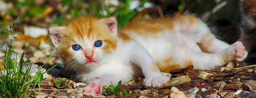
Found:
<path fill-rule="evenodd" d="M 143 75 L 144 85 L 159 87 L 170 79 L 161 71 L 189 65 L 210 70 L 247 56 L 241 42 L 216 39 L 189 14 L 133 20 L 118 31 L 115 17 L 80 16 L 49 32 L 64 65 L 76 71 L 76 81 L 87 82 L 84 93 L 89 94 Z"/>

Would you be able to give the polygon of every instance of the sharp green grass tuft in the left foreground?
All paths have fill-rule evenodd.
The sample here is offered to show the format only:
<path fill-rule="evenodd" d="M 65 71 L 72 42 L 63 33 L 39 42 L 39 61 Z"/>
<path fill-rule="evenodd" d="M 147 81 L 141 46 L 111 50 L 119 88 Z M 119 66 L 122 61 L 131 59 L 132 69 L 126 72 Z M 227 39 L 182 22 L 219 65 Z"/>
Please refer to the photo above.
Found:
<path fill-rule="evenodd" d="M 10 26 L 11 38 L 15 22 Z M 12 40 L 12 39 L 11 39 Z M 17 55 L 15 59 L 12 59 L 13 48 L 10 44 L 10 47 L 6 46 L 5 52 L 5 61 L 3 62 L 4 70 L 0 72 L 0 98 L 24 98 L 28 97 L 31 91 L 34 90 L 36 85 L 43 79 L 43 74 L 49 70 L 43 72 L 43 70 L 38 71 L 35 76 L 29 77 L 29 72 L 33 65 L 32 62 L 29 62 L 29 59 L 32 55 L 25 60 L 23 52 L 19 63 L 17 62 Z M 17 53 L 16 53 L 17 54 Z M 24 72 L 22 68 L 27 66 L 26 71 Z"/>

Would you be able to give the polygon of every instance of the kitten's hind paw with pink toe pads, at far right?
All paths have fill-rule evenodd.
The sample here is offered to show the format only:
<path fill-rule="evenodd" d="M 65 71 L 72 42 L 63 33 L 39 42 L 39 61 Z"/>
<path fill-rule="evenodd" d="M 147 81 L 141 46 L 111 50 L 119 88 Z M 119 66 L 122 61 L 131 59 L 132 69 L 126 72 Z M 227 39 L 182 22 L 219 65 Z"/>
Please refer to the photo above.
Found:
<path fill-rule="evenodd" d="M 234 49 L 236 53 L 236 60 L 238 62 L 241 62 L 242 60 L 244 60 L 248 55 L 248 52 L 245 51 L 245 47 L 243 46 L 242 42 L 234 43 Z"/>

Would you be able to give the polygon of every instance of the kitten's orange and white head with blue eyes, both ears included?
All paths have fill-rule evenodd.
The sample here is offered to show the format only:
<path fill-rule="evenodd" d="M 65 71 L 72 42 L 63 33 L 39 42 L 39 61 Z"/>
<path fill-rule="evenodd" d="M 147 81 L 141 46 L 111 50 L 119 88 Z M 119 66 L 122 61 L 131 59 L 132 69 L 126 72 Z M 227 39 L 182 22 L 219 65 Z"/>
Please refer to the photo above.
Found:
<path fill-rule="evenodd" d="M 64 26 L 50 27 L 49 35 L 66 67 L 94 68 L 117 47 L 115 17 L 80 16 Z"/>

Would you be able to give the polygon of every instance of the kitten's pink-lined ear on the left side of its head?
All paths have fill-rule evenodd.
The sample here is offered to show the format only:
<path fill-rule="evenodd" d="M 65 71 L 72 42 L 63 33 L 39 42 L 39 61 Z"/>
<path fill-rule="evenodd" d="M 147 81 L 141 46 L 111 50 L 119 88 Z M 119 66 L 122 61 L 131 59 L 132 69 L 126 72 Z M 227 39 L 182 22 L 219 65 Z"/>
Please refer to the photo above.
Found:
<path fill-rule="evenodd" d="M 60 44 L 61 31 L 64 30 L 65 27 L 50 27 L 49 28 L 49 36 L 52 40 L 52 43 L 55 47 L 58 47 Z"/>

